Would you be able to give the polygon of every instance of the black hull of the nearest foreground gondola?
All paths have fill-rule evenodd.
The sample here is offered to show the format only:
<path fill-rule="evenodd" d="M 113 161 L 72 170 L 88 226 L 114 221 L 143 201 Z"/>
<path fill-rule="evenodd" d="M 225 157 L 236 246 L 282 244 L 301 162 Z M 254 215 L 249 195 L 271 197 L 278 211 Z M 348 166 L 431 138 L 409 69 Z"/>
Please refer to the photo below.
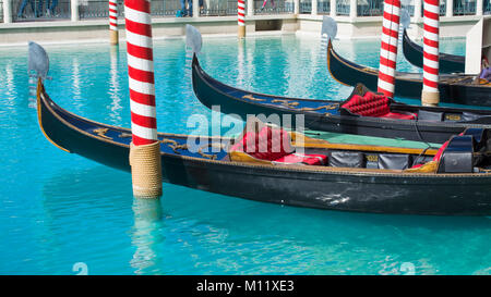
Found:
<path fill-rule="evenodd" d="M 130 171 L 129 131 L 92 122 L 38 97 L 39 124 L 56 146 Z M 107 139 L 94 131 L 107 129 Z M 120 136 L 118 136 L 120 135 Z M 175 140 L 187 136 L 159 134 Z M 213 140 L 213 139 L 212 139 Z M 325 171 L 315 166 L 253 165 L 165 151 L 166 182 L 251 200 L 342 211 L 490 215 L 490 174 L 394 174 Z"/>

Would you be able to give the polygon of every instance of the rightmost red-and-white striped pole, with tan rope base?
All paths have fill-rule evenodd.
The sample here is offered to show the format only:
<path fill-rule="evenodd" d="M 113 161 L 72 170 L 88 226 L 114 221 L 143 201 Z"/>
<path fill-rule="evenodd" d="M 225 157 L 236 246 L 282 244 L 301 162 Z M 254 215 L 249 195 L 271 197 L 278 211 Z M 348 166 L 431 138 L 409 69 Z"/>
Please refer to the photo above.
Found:
<path fill-rule="evenodd" d="M 435 107 L 440 102 L 439 32 L 440 0 L 424 0 L 422 106 Z"/>

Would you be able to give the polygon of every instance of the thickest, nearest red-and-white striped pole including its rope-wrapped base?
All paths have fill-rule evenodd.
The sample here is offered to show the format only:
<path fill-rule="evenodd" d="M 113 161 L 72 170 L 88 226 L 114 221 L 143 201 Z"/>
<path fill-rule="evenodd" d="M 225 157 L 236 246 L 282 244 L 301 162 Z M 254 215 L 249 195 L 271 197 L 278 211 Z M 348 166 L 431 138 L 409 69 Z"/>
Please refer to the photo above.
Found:
<path fill-rule="evenodd" d="M 133 195 L 161 196 L 160 143 L 157 138 L 155 78 L 149 0 L 125 0 L 128 75 L 130 85 L 130 165 Z"/>

